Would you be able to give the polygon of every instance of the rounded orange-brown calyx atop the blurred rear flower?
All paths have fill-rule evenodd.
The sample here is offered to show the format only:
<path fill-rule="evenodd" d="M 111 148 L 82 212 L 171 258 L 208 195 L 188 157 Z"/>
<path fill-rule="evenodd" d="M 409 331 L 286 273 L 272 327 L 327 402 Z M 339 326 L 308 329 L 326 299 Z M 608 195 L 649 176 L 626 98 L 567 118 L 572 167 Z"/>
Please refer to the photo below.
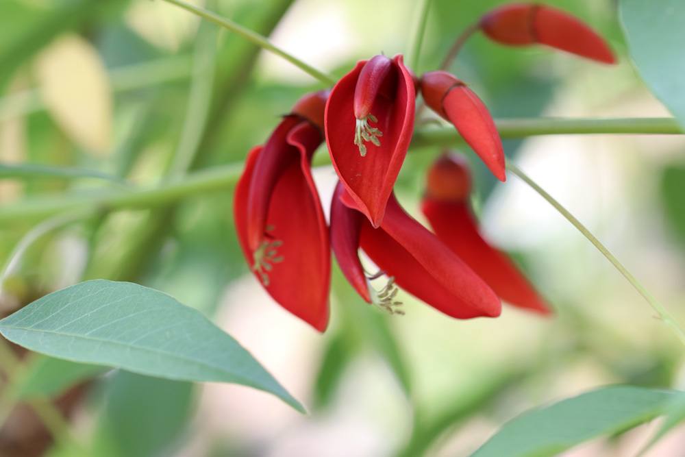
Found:
<path fill-rule="evenodd" d="M 471 195 L 469 163 L 462 156 L 445 153 L 428 170 L 426 197 L 437 201 L 465 201 Z"/>

